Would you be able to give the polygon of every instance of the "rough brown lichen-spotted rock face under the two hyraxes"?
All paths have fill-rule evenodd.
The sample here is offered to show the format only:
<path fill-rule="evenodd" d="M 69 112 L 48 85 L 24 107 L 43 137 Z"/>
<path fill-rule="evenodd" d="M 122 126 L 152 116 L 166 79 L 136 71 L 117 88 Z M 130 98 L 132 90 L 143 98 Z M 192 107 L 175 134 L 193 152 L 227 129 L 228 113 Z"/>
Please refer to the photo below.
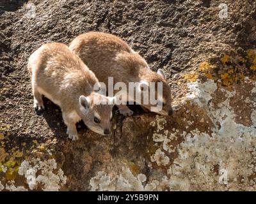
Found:
<path fill-rule="evenodd" d="M 10 2 L 0 3 L 0 190 L 256 190 L 254 0 Z M 37 114 L 29 55 L 86 31 L 116 34 L 163 68 L 173 116 L 135 108 L 115 116 L 113 135 L 80 123 L 70 142 L 56 105 L 45 99 Z"/>

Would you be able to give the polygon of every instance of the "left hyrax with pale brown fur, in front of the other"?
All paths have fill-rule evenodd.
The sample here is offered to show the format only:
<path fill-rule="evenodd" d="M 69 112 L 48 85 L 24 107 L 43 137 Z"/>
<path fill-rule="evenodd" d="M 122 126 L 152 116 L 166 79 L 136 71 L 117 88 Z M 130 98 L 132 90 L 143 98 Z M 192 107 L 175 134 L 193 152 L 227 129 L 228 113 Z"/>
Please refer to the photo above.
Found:
<path fill-rule="evenodd" d="M 114 98 L 93 91 L 93 85 L 99 85 L 99 81 L 66 45 L 42 45 L 29 57 L 28 69 L 34 107 L 44 109 L 42 95 L 60 106 L 68 138 L 78 139 L 76 122 L 81 119 L 100 135 L 111 132 Z"/>

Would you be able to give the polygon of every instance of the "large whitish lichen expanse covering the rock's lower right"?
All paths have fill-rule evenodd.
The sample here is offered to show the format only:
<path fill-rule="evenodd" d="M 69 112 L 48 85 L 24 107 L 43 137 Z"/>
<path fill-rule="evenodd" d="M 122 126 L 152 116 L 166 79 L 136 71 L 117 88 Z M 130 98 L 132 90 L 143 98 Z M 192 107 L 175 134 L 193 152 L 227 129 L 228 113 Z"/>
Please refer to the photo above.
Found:
<path fill-rule="evenodd" d="M 199 81 L 189 84 L 191 93 L 187 95 L 188 99 L 204 108 L 215 128 L 211 135 L 196 128 L 185 134 L 184 142 L 177 149 L 178 157 L 168 170 L 169 187 L 171 190 L 188 191 L 253 191 L 256 189 L 253 176 L 256 175 L 255 126 L 247 127 L 235 122 L 236 113 L 230 106 L 230 98 L 236 90 L 221 89 L 225 93 L 225 101 L 214 105 L 211 97 L 216 84 L 212 83 L 209 80 L 202 84 Z M 253 103 L 250 98 L 246 100 Z"/>

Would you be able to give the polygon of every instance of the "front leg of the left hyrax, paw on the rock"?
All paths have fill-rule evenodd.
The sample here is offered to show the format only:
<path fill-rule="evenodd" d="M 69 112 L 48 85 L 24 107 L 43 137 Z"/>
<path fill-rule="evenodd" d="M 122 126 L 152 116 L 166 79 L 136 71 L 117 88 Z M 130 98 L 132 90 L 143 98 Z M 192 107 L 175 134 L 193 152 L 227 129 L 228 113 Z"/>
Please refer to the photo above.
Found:
<path fill-rule="evenodd" d="M 72 117 L 72 113 L 62 111 L 63 120 L 67 126 L 68 138 L 71 140 L 78 140 L 78 134 L 76 130 L 76 120 Z"/>

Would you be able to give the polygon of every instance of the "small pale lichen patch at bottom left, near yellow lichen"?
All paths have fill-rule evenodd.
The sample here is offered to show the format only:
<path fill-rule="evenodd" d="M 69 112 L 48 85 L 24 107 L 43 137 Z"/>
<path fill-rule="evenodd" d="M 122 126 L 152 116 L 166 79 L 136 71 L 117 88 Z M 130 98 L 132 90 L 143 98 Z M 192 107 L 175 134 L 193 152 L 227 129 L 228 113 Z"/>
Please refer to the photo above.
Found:
<path fill-rule="evenodd" d="M 55 159 L 23 161 L 19 167 L 19 174 L 24 175 L 31 190 L 40 185 L 44 191 L 58 191 L 66 183 L 63 171 L 57 170 Z"/>

